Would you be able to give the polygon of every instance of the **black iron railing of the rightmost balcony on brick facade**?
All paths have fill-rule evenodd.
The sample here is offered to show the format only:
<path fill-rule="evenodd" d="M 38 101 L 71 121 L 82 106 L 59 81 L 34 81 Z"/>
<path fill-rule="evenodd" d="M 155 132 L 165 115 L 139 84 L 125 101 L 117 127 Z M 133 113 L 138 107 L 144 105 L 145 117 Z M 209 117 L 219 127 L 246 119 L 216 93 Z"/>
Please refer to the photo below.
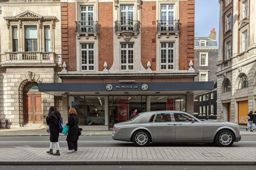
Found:
<path fill-rule="evenodd" d="M 179 31 L 180 20 L 157 20 L 157 31 Z"/>

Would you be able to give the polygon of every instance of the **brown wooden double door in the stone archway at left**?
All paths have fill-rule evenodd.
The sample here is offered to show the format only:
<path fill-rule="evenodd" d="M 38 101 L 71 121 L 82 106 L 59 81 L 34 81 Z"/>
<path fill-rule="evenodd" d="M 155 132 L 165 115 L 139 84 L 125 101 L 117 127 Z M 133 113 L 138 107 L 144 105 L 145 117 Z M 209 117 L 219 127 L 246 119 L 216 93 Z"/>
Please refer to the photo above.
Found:
<path fill-rule="evenodd" d="M 24 123 L 42 123 L 41 95 L 24 95 Z"/>

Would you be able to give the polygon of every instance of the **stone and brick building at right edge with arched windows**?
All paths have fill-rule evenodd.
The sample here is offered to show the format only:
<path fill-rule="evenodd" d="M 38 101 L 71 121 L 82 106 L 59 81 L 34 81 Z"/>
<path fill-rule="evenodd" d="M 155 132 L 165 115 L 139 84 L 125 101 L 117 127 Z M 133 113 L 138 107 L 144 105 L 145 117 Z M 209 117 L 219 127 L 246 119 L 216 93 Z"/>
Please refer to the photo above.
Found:
<path fill-rule="evenodd" d="M 256 110 L 256 4 L 252 0 L 219 2 L 217 119 L 247 124 L 247 113 Z"/>

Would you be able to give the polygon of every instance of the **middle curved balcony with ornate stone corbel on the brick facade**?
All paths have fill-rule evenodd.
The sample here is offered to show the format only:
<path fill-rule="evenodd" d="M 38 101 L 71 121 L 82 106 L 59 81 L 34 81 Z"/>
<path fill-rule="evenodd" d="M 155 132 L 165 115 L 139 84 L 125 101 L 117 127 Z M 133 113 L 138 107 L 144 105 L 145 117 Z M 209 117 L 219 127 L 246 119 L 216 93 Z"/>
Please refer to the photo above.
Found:
<path fill-rule="evenodd" d="M 128 42 L 132 36 L 137 38 L 140 29 L 140 22 L 133 20 L 115 21 L 115 33 L 120 38 L 122 36 Z"/>

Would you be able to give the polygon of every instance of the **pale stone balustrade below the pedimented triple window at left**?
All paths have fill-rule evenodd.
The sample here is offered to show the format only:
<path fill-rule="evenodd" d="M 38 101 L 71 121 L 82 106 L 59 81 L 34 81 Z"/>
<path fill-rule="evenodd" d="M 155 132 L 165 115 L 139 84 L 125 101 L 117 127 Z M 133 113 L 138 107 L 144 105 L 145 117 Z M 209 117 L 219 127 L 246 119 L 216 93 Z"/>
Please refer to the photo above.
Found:
<path fill-rule="evenodd" d="M 54 52 L 6 52 L 6 64 L 54 63 Z"/>

